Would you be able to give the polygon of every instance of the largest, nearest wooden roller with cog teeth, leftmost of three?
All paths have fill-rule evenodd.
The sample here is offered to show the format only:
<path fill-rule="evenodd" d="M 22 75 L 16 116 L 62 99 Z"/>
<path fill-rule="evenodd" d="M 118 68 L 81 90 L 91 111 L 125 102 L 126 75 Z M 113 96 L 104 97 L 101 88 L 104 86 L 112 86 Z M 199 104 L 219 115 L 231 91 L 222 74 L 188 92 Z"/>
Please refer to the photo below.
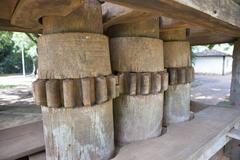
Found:
<path fill-rule="evenodd" d="M 101 4 L 86 0 L 65 17 L 45 16 L 42 21 L 38 76 L 46 80 L 42 115 L 47 159 L 110 159 L 113 111 L 105 77 L 111 75 L 111 65 Z M 44 104 L 42 90 L 37 93 Z"/>

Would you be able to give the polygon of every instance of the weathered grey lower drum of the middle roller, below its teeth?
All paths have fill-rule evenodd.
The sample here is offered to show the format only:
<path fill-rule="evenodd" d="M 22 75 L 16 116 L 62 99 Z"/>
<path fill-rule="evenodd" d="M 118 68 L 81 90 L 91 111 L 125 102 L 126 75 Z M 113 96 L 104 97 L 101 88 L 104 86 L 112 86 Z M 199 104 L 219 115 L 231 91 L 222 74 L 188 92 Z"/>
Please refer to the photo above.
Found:
<path fill-rule="evenodd" d="M 114 99 L 114 127 L 117 145 L 160 136 L 163 93 L 148 96 L 120 96 Z"/>

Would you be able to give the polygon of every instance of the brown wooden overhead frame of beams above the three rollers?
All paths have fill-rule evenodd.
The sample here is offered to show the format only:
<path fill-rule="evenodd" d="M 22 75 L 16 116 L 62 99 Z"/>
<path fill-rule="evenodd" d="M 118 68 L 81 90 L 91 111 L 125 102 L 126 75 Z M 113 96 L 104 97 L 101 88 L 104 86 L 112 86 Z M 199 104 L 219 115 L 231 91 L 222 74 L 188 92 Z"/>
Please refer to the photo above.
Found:
<path fill-rule="evenodd" d="M 66 16 L 82 3 L 83 0 L 1 0 L 0 30 L 41 33 L 41 17 Z M 106 4 L 105 29 L 146 13 L 172 19 L 171 23 L 163 22 L 163 30 L 190 28 L 193 45 L 233 42 L 240 36 L 240 0 L 107 0 Z"/>

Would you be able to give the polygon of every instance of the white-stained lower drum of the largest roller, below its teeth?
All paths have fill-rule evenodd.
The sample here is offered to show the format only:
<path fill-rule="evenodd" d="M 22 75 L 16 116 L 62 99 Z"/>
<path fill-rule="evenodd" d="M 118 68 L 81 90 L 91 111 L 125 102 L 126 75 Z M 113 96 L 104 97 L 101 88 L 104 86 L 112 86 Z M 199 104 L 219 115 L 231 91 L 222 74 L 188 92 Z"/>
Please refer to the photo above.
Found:
<path fill-rule="evenodd" d="M 110 159 L 114 152 L 112 101 L 96 107 L 42 107 L 48 160 Z"/>

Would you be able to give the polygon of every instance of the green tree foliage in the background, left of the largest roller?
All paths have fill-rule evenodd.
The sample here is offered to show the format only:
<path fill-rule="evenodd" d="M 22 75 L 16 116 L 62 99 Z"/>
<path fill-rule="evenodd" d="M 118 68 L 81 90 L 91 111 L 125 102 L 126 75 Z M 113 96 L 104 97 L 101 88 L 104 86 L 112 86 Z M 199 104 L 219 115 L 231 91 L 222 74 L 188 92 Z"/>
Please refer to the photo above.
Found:
<path fill-rule="evenodd" d="M 0 74 L 22 73 L 22 47 L 27 73 L 36 70 L 37 51 L 34 34 L 0 32 Z"/>

